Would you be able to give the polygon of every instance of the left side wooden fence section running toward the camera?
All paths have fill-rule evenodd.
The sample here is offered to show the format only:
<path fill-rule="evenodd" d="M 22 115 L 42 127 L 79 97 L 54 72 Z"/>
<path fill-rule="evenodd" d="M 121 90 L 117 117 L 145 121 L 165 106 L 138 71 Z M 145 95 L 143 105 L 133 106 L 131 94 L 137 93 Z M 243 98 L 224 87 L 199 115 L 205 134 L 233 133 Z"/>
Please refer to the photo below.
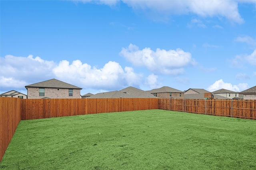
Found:
<path fill-rule="evenodd" d="M 0 98 L 0 162 L 20 123 L 20 98 Z"/>

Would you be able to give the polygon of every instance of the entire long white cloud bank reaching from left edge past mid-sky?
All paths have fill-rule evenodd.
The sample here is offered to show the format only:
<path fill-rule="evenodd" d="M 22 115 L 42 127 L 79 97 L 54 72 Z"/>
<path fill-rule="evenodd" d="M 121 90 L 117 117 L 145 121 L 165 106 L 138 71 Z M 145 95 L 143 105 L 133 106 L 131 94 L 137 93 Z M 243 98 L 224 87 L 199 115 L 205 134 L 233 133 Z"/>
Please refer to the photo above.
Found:
<path fill-rule="evenodd" d="M 10 88 L 24 88 L 24 86 L 56 78 L 81 88 L 95 88 L 102 90 L 116 90 L 126 86 L 139 86 L 142 74 L 134 72 L 133 68 L 109 61 L 102 68 L 92 67 L 80 60 L 71 64 L 66 61 L 54 63 L 40 57 L 15 57 L 6 55 L 1 57 L 1 91 Z"/>

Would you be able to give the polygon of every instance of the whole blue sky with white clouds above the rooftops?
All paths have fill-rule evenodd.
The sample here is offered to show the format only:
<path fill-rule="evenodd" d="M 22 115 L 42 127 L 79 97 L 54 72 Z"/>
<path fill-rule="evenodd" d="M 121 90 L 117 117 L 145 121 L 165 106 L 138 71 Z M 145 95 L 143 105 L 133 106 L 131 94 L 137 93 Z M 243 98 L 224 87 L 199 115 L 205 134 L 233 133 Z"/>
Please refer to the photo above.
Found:
<path fill-rule="evenodd" d="M 0 0 L 0 94 L 256 86 L 256 0 Z"/>

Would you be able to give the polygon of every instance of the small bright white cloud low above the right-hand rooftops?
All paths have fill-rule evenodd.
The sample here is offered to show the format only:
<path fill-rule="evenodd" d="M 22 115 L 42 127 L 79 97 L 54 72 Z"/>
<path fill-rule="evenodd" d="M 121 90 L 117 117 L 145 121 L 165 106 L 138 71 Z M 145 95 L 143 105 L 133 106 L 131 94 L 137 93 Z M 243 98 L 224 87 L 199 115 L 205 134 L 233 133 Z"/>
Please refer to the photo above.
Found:
<path fill-rule="evenodd" d="M 231 83 L 226 83 L 222 79 L 217 80 L 214 82 L 214 84 L 210 85 L 207 90 L 210 92 L 220 90 L 220 89 L 226 89 L 226 90 L 231 90 L 234 92 L 241 92 L 243 90 L 246 90 L 249 88 L 249 85 L 247 83 L 239 83 L 238 85 L 232 85 Z"/>

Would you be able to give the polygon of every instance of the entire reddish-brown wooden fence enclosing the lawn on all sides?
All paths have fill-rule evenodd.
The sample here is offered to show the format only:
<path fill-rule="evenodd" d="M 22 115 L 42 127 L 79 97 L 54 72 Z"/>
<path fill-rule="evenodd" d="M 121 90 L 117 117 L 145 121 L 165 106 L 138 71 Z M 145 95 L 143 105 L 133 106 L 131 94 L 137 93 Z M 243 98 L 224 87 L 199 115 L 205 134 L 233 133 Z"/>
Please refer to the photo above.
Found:
<path fill-rule="evenodd" d="M 147 109 L 256 119 L 256 100 L 20 99 L 2 97 L 0 98 L 0 162 L 20 120 Z"/>

